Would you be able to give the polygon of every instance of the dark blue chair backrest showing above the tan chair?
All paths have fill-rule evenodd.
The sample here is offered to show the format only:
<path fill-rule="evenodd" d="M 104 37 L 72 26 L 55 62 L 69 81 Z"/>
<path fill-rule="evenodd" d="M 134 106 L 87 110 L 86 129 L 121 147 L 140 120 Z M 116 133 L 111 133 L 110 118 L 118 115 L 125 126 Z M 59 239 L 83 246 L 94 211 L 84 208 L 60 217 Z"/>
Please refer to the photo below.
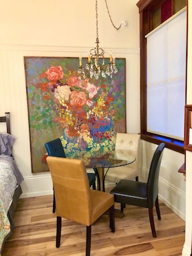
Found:
<path fill-rule="evenodd" d="M 56 140 L 51 140 L 50 142 L 46 142 L 45 148 L 47 149 L 49 156 L 65 157 L 65 151 L 59 138 L 56 138 Z"/>

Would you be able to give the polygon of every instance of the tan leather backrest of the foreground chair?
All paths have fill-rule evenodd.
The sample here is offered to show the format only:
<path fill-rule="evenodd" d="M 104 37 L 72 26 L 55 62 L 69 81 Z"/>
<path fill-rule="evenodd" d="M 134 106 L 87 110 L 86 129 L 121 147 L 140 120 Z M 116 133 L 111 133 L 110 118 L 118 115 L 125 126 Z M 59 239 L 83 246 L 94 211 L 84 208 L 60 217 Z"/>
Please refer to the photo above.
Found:
<path fill-rule="evenodd" d="M 59 217 L 89 226 L 92 206 L 89 180 L 82 159 L 48 156 Z"/>

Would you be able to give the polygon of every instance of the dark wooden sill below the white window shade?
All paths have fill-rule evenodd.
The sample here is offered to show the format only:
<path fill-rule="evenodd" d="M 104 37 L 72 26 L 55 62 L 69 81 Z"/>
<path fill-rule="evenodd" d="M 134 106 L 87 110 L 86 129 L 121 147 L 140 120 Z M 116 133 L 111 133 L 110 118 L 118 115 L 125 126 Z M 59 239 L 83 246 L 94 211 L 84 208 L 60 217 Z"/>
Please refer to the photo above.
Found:
<path fill-rule="evenodd" d="M 167 149 L 171 149 L 178 153 L 184 154 L 184 142 L 180 140 L 175 140 L 171 138 L 166 138 L 163 136 L 155 135 L 155 134 L 141 134 L 141 139 L 147 142 L 151 142 L 153 144 L 160 144 L 161 142 L 165 143 L 165 147 Z"/>

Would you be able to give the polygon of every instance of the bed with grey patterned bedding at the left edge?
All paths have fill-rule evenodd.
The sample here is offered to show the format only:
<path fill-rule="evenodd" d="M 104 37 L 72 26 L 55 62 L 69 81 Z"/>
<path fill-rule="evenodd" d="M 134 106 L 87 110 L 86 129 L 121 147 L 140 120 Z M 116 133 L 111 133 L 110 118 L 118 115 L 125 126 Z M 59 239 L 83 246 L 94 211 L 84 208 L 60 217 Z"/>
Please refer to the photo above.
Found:
<path fill-rule="evenodd" d="M 23 176 L 12 155 L 14 142 L 10 134 L 10 113 L 6 112 L 0 116 L 0 255 L 14 228 L 14 212 L 22 193 Z"/>

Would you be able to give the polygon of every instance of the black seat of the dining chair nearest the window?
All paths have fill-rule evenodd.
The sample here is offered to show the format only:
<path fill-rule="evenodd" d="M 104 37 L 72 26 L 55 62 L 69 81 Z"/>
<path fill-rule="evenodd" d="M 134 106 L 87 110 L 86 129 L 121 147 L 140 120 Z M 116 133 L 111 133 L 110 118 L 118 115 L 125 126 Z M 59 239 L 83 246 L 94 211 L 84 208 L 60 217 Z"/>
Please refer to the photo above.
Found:
<path fill-rule="evenodd" d="M 120 180 L 111 190 L 115 202 L 147 208 L 147 183 L 134 180 Z"/>

